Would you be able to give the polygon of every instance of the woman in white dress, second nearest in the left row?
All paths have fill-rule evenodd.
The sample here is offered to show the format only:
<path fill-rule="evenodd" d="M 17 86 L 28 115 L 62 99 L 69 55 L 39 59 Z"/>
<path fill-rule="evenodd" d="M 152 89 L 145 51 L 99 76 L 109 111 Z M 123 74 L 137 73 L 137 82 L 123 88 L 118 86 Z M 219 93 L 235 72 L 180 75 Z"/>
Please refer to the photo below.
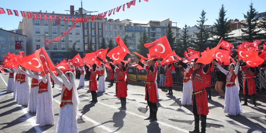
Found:
<path fill-rule="evenodd" d="M 37 95 L 36 124 L 54 125 L 53 93 L 50 74 L 38 75 L 39 91 Z"/>

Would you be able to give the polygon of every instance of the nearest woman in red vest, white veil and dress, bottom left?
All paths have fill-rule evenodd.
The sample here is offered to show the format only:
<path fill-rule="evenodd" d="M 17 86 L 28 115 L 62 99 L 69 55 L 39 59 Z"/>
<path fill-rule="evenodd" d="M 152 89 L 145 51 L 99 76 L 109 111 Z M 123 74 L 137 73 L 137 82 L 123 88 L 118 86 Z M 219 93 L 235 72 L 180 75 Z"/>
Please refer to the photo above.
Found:
<path fill-rule="evenodd" d="M 54 75 L 52 71 L 50 74 L 55 83 L 62 87 L 61 91 L 61 104 L 59 118 L 56 126 L 56 133 L 78 133 L 78 105 L 79 97 L 76 89 L 76 81 L 72 72 L 66 72 L 63 74 L 58 68 L 55 68 L 59 73 L 61 80 Z"/>

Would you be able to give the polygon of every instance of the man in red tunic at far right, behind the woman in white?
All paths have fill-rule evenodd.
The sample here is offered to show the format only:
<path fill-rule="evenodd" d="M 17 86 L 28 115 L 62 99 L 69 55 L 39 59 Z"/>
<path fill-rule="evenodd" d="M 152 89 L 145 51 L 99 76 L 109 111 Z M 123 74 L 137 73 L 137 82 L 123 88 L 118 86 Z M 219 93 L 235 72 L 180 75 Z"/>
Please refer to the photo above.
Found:
<path fill-rule="evenodd" d="M 245 99 L 242 105 L 248 105 L 248 95 L 251 95 L 253 101 L 253 107 L 257 107 L 256 106 L 257 92 L 254 81 L 255 68 L 248 66 L 240 66 L 239 70 L 244 72 L 243 94 L 245 95 Z"/>

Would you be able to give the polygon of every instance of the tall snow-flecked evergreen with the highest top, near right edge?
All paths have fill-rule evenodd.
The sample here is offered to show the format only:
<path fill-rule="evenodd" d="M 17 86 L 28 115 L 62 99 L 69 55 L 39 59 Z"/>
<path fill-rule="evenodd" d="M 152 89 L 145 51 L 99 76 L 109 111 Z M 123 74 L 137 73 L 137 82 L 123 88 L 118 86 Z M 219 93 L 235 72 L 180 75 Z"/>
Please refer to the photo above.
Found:
<path fill-rule="evenodd" d="M 247 11 L 247 15 L 244 15 L 244 18 L 247 20 L 247 23 L 241 23 L 244 27 L 246 27 L 246 29 L 241 29 L 241 31 L 243 32 L 243 34 L 247 34 L 245 36 L 243 36 L 242 34 L 242 41 L 247 41 L 247 42 L 253 42 L 255 40 L 259 40 L 261 39 L 261 34 L 259 34 L 259 30 L 255 30 L 257 27 L 257 21 L 258 18 L 255 18 L 256 14 L 258 13 L 258 11 L 256 11 L 255 8 L 253 8 L 253 3 L 251 3 L 249 5 L 250 10 Z"/>

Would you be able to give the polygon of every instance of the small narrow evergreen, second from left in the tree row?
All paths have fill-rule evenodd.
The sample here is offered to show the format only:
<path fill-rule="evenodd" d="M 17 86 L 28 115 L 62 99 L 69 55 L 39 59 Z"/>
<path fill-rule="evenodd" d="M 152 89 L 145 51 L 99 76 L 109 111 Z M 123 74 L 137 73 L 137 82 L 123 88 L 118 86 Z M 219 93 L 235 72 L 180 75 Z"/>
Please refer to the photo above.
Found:
<path fill-rule="evenodd" d="M 178 50 L 175 51 L 177 55 L 183 55 L 184 51 L 187 50 L 187 48 L 190 46 L 190 41 L 188 40 L 189 37 L 190 36 L 188 34 L 187 24 L 185 24 L 183 34 L 180 35 L 180 41 L 177 41 Z"/>

